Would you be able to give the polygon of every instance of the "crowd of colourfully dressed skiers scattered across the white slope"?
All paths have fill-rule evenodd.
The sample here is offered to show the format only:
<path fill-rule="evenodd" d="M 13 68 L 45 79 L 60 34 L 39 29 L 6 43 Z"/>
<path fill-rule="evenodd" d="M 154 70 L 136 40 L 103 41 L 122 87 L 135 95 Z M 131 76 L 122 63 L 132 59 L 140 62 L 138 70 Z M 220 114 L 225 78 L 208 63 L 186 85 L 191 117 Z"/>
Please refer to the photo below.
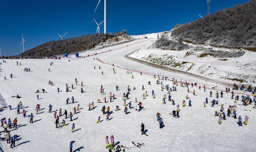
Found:
<path fill-rule="evenodd" d="M 3 61 L 3 63 L 6 63 L 6 61 Z M 17 62 L 17 65 L 18 65 L 18 62 Z M 53 65 L 53 63 L 51 62 L 50 65 Z M 94 69 L 95 69 L 95 67 L 94 67 Z M 99 67 L 99 69 L 100 69 L 100 67 Z M 30 71 L 30 68 L 25 68 L 24 71 Z M 116 71 L 115 71 L 114 68 L 113 68 L 113 72 L 114 72 L 114 74 L 116 74 Z M 102 74 L 103 74 L 103 71 L 102 71 Z M 132 74 L 132 71 L 130 71 L 130 72 L 127 71 L 127 74 Z M 13 74 L 11 74 L 10 76 L 12 78 Z M 154 78 L 156 78 L 156 75 L 154 75 Z M 132 74 L 132 79 L 134 79 L 133 74 Z M 174 101 L 174 99 L 172 99 L 172 95 L 171 94 L 174 93 L 174 92 L 177 92 L 177 90 L 178 90 L 177 87 L 179 86 L 179 87 L 186 87 L 186 90 L 187 90 L 187 94 L 184 97 L 185 99 L 183 101 L 181 101 L 182 108 L 186 108 L 186 101 L 185 100 L 188 101 L 188 107 L 192 107 L 192 100 L 190 99 L 188 94 L 192 93 L 192 95 L 194 95 L 194 96 L 198 95 L 198 94 L 196 94 L 196 91 L 195 91 L 196 90 L 195 87 L 197 87 L 197 83 L 191 83 L 190 84 L 187 81 L 178 81 L 177 79 L 174 79 L 174 78 L 172 78 L 172 80 L 169 81 L 168 77 L 164 77 L 163 76 L 162 78 L 160 78 L 159 75 L 158 75 L 158 78 L 156 78 L 156 79 L 157 79 L 156 80 L 156 85 L 159 86 L 159 90 L 161 90 L 161 92 L 167 92 L 166 94 L 168 95 L 168 96 L 166 94 L 163 95 L 163 98 L 161 99 L 162 100 L 162 104 L 166 104 L 166 98 L 168 98 L 168 101 L 170 102 L 170 104 L 175 106 L 175 101 Z M 170 85 L 167 84 L 167 82 L 172 82 L 172 87 L 170 87 Z M 52 81 L 49 81 L 48 85 L 54 86 L 54 83 Z M 76 78 L 75 78 L 75 85 L 76 86 L 78 85 L 78 81 L 77 81 Z M 149 86 L 151 85 L 150 81 L 149 81 L 148 85 Z M 82 88 L 83 86 L 84 86 L 84 84 L 83 84 L 83 82 L 81 82 L 81 93 L 84 93 L 83 88 Z M 71 85 L 71 87 L 69 87 L 69 85 L 66 83 L 65 87 L 66 87 L 66 92 L 70 92 L 71 90 L 75 89 L 73 87 L 73 84 Z M 192 92 L 190 91 L 189 87 L 193 88 Z M 128 85 L 127 86 L 127 92 L 125 91 L 124 94 L 121 97 L 122 101 L 124 102 L 123 107 L 124 107 L 125 115 L 129 115 L 129 113 L 131 113 L 132 109 L 134 111 L 138 111 L 138 112 L 141 111 L 141 110 L 144 110 L 145 108 L 142 106 L 142 102 L 141 101 L 147 100 L 147 97 L 149 96 L 149 94 L 148 94 L 148 92 L 146 90 L 147 88 L 144 85 L 142 85 L 141 86 L 141 90 L 142 90 L 143 93 L 142 93 L 140 98 L 138 97 L 139 101 L 137 101 L 137 98 L 135 98 L 134 102 L 133 102 L 129 98 L 129 96 L 133 92 L 135 92 L 135 91 L 137 92 L 137 89 L 134 87 L 133 91 L 132 91 L 131 88 Z M 198 88 L 199 88 L 199 90 L 201 90 L 200 86 Z M 205 85 L 203 85 L 203 88 L 204 88 L 203 91 L 206 92 L 206 86 Z M 120 90 L 120 89 L 116 85 L 116 91 L 118 91 L 118 90 Z M 42 89 L 42 91 L 43 91 L 43 93 L 45 93 L 45 89 Z M 225 91 L 226 91 L 227 94 L 231 94 L 231 99 L 234 100 L 234 103 L 235 103 L 233 106 L 229 105 L 229 107 L 227 107 L 227 117 L 233 117 L 234 119 L 237 119 L 236 115 L 237 115 L 237 111 L 238 111 L 237 108 L 238 107 L 236 106 L 236 104 L 239 101 L 240 97 L 239 97 L 239 95 L 235 96 L 235 93 L 233 91 L 230 92 L 229 88 L 226 88 Z M 57 94 L 59 94 L 61 92 L 59 87 L 57 87 L 57 91 L 56 92 L 57 92 Z M 109 92 L 109 95 L 106 98 L 106 96 L 104 96 L 106 94 L 105 93 L 105 89 L 101 85 L 100 95 L 104 96 L 104 98 L 103 98 L 104 103 L 112 103 L 115 99 L 117 99 L 115 94 L 113 94 L 112 92 Z M 38 95 L 40 93 L 39 90 L 36 90 L 36 93 L 37 93 L 36 97 L 39 100 L 39 95 Z M 152 98 L 155 99 L 156 98 L 155 91 L 152 90 L 151 93 L 152 93 Z M 223 91 L 220 92 L 220 97 L 221 98 L 223 97 L 224 93 L 223 93 Z M 220 104 L 220 101 L 217 100 L 217 99 L 219 99 L 218 90 L 216 90 L 216 94 L 215 95 L 216 95 L 216 100 L 215 99 L 211 100 L 211 102 L 210 102 L 211 106 L 210 107 L 215 107 L 215 105 L 219 105 Z M 253 95 L 254 95 L 253 99 L 251 99 L 250 95 L 242 95 L 241 96 L 242 105 L 243 106 L 248 106 L 249 104 L 252 104 L 254 102 L 253 108 L 256 109 L 256 94 L 253 94 Z M 213 96 L 213 90 L 210 90 L 209 96 L 210 97 Z M 235 99 L 234 99 L 234 97 L 235 97 Z M 129 99 L 131 100 L 130 102 L 128 101 Z M 71 102 L 69 102 L 69 101 L 70 101 L 70 99 L 68 97 L 66 99 L 66 104 L 70 105 L 70 104 L 77 103 L 77 102 L 75 102 L 75 98 L 73 96 L 71 98 Z M 101 99 L 97 99 L 97 104 L 100 104 L 100 103 L 102 103 Z M 132 104 L 134 104 L 133 107 L 132 107 Z M 208 104 L 208 97 L 206 97 L 205 101 L 203 101 L 202 106 L 204 108 L 206 108 L 207 104 Z M 35 107 L 35 114 L 36 115 L 40 115 L 42 113 L 40 111 L 45 109 L 45 108 L 41 108 L 40 109 L 40 106 L 41 106 L 40 104 L 36 104 L 36 107 Z M 129 109 L 128 109 L 128 107 L 129 107 Z M 220 107 L 221 107 L 220 110 L 219 111 L 215 111 L 215 115 L 214 115 L 214 116 L 218 117 L 218 124 L 222 124 L 222 120 L 227 120 L 226 119 L 226 113 L 224 111 L 224 104 L 220 104 Z M 28 111 L 26 111 L 24 108 L 25 107 L 24 107 L 23 103 L 20 101 L 18 103 L 18 105 L 16 106 L 16 108 L 15 108 L 16 111 L 17 111 L 17 115 L 21 114 L 20 110 L 23 110 L 22 111 L 23 117 L 24 118 L 29 117 L 29 122 L 31 124 L 33 124 L 35 122 L 35 121 L 33 122 L 33 119 L 34 119 L 33 113 L 31 113 L 30 115 L 26 115 L 26 113 Z M 70 118 L 70 121 L 75 120 L 75 119 L 73 119 L 73 114 L 75 115 L 75 114 L 79 113 L 80 112 L 79 110 L 82 109 L 80 104 L 77 104 L 77 106 L 73 106 L 72 105 L 69 110 L 64 110 L 64 113 L 62 113 L 62 111 L 63 111 L 62 108 L 58 108 L 58 110 L 52 111 L 53 106 L 51 104 L 49 104 L 48 108 L 49 108 L 48 113 L 54 113 L 53 115 L 54 115 L 54 119 L 55 119 L 55 127 L 59 128 L 59 129 L 65 127 L 67 125 L 65 119 Z M 121 109 L 120 106 L 116 105 L 116 109 L 113 110 L 113 111 L 117 112 L 117 111 L 120 111 L 120 109 Z M 9 110 L 13 110 L 11 105 L 9 105 Z M 95 105 L 94 105 L 93 101 L 88 104 L 88 111 L 92 111 L 92 110 L 95 110 Z M 68 113 L 68 111 L 70 111 L 70 112 Z M 77 112 L 77 111 L 79 111 L 79 112 Z M 111 116 L 113 111 L 110 110 L 109 106 L 107 106 L 107 108 L 106 108 L 105 105 L 102 106 L 101 111 L 102 111 L 102 115 L 104 115 L 104 118 L 106 118 L 105 120 L 109 121 L 109 120 L 112 119 L 112 118 L 109 118 L 109 117 Z M 57 114 L 57 112 L 59 112 L 59 113 Z M 180 118 L 180 106 L 179 106 L 179 104 L 176 105 L 176 110 L 173 110 L 169 114 L 173 115 L 174 118 Z M 62 116 L 65 117 L 65 118 L 63 118 L 63 121 L 60 122 L 59 119 Z M 163 129 L 163 127 L 165 127 L 165 125 L 164 125 L 164 122 L 163 122 L 163 118 L 161 118 L 161 114 L 159 112 L 157 112 L 156 113 L 156 117 L 157 117 L 157 122 L 159 124 L 159 129 Z M 96 121 L 97 124 L 103 121 L 103 120 L 100 120 L 100 118 L 101 118 L 101 116 L 98 116 L 97 121 Z M 246 115 L 246 116 L 244 116 L 244 121 L 242 121 L 242 120 L 243 120 L 243 117 L 241 117 L 239 115 L 238 116 L 238 124 L 239 124 L 239 126 L 242 126 L 242 124 L 247 125 L 249 117 L 247 117 L 247 115 Z M 17 118 L 14 118 L 13 121 L 11 120 L 11 118 L 8 118 L 8 120 L 6 120 L 6 118 L 2 118 L 1 119 L 1 126 L 4 128 L 4 133 L 5 133 L 5 137 L 6 137 L 7 143 L 11 143 L 11 146 L 10 146 L 11 148 L 15 147 L 15 141 L 19 140 L 18 139 L 19 136 L 17 136 L 17 135 L 11 136 L 10 131 L 8 129 L 11 129 L 12 127 L 16 128 L 17 127 L 17 122 L 18 122 Z M 145 125 L 143 123 L 141 123 L 141 134 L 148 136 L 146 134 L 145 130 L 144 130 L 144 127 L 145 127 Z M 76 131 L 75 130 L 75 123 L 72 123 L 72 125 L 71 125 L 71 132 L 75 133 L 75 131 Z M 110 144 L 109 144 L 109 139 L 111 141 Z M 116 146 L 115 142 L 114 142 L 114 139 L 115 138 L 114 138 L 113 135 L 110 138 L 108 138 L 108 136 L 106 136 L 106 138 L 105 138 L 106 148 L 108 148 L 109 152 L 112 152 L 112 150 L 120 152 L 122 150 L 122 148 L 124 148 L 123 149 L 123 152 L 124 152 L 125 151 L 125 146 L 123 146 L 123 145 L 121 145 L 121 146 L 117 145 Z M 73 143 L 75 143 L 75 141 L 70 141 L 70 145 L 69 145 L 70 152 L 72 152 Z M 136 145 L 136 144 L 134 143 L 134 145 Z M 141 145 L 143 145 L 143 144 L 138 144 L 136 146 L 140 147 Z M 127 149 L 129 149 L 129 147 L 127 147 Z"/>

